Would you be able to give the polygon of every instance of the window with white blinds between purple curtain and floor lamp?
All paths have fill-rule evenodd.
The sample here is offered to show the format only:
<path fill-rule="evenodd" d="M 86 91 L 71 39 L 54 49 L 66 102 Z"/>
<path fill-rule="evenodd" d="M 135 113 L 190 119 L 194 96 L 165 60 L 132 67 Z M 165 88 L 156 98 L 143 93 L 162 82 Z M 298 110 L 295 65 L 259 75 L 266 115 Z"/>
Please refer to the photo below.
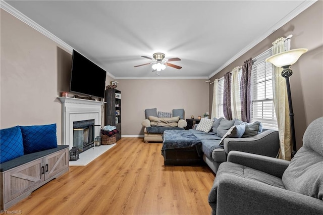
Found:
<path fill-rule="evenodd" d="M 272 50 L 268 49 L 254 59 L 251 72 L 251 120 L 260 121 L 265 128 L 277 128 L 272 64 L 265 62 L 265 59 L 271 55 Z"/>

